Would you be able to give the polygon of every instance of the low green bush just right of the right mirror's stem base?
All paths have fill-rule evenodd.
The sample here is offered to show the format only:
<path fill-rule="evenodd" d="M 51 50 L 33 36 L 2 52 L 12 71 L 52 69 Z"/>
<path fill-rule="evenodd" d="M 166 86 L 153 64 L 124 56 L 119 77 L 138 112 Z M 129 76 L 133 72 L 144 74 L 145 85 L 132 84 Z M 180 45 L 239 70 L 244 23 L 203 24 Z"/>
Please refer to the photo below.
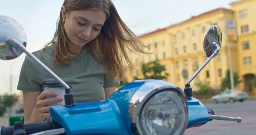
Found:
<path fill-rule="evenodd" d="M 209 81 L 198 81 L 195 83 L 195 85 L 198 87 L 198 91 L 195 91 L 195 94 L 198 95 L 207 95 L 211 90 L 211 87 L 209 86 Z"/>

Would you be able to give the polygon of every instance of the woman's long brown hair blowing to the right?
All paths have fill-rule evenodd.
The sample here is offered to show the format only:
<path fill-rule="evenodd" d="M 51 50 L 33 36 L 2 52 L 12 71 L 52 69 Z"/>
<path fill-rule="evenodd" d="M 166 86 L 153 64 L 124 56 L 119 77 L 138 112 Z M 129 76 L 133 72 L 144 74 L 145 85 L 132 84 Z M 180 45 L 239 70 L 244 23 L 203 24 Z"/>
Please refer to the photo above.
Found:
<path fill-rule="evenodd" d="M 94 57 L 105 66 L 111 79 L 122 80 L 124 78 L 124 62 L 127 62 L 128 66 L 133 68 L 133 63 L 127 55 L 128 50 L 134 53 L 150 54 L 143 51 L 143 47 L 146 46 L 125 25 L 111 0 L 64 0 L 63 6 L 66 7 L 67 13 L 77 10 L 104 10 L 106 12 L 107 20 L 99 36 L 90 41 L 88 47 Z M 67 59 L 78 54 L 67 48 L 70 41 L 63 28 L 61 13 L 54 37 L 44 49 L 52 43 L 55 45 L 53 51 L 55 62 L 61 65 L 72 64 Z M 42 55 L 43 53 L 44 51 Z"/>

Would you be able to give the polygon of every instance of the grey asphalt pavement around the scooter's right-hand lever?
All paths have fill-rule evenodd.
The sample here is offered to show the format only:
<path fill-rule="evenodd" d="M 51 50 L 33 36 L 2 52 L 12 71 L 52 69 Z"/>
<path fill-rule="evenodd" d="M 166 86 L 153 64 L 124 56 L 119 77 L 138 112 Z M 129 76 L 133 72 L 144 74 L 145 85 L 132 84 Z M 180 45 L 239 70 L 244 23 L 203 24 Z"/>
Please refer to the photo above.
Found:
<path fill-rule="evenodd" d="M 203 126 L 187 129 L 184 135 L 256 135 L 256 101 L 204 105 L 216 115 L 241 117 L 242 121 L 212 120 Z"/>

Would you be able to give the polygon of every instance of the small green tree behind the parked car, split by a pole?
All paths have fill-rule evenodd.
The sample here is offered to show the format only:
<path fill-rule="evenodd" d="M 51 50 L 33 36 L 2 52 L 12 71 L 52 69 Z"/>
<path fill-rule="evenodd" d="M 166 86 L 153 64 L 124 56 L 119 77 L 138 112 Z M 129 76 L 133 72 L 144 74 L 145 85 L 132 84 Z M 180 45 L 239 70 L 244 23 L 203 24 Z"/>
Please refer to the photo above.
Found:
<path fill-rule="evenodd" d="M 237 72 L 233 72 L 233 80 L 234 80 L 234 87 L 236 87 L 239 83 L 242 82 L 242 80 L 239 80 L 239 75 Z M 223 89 L 225 89 L 225 88 L 231 89 L 230 69 L 227 69 L 226 77 L 221 80 L 221 87 Z"/>

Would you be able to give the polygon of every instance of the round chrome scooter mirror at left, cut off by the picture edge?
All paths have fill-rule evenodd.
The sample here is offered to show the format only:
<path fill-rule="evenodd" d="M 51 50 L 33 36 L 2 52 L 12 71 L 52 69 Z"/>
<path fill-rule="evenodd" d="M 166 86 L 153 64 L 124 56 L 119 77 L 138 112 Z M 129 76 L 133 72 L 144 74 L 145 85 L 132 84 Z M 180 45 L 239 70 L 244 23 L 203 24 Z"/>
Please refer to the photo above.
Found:
<path fill-rule="evenodd" d="M 11 17 L 0 15 L 0 59 L 12 60 L 23 52 L 6 41 L 13 38 L 26 47 L 26 33 L 19 22 Z"/>

